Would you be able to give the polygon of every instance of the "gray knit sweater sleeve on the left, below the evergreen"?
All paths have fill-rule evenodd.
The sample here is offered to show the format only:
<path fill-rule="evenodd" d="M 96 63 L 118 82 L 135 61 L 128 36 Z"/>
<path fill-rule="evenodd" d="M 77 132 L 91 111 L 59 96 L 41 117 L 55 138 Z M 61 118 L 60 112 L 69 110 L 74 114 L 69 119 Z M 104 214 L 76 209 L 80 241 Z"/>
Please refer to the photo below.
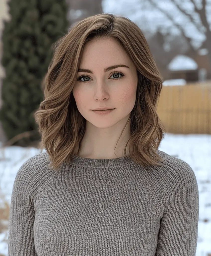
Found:
<path fill-rule="evenodd" d="M 37 256 L 33 239 L 34 207 L 32 204 L 32 168 L 30 161 L 18 170 L 11 196 L 8 256 Z M 31 172 L 31 173 L 30 173 Z"/>

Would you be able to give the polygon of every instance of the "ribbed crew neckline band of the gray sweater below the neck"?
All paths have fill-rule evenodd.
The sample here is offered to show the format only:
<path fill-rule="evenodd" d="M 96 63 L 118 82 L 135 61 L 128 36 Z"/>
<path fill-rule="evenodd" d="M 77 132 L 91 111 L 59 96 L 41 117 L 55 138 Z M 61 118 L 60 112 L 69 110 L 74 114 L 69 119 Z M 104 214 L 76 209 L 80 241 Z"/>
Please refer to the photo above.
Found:
<path fill-rule="evenodd" d="M 77 165 L 81 167 L 91 167 L 91 168 L 113 168 L 121 167 L 126 165 L 134 164 L 135 162 L 129 156 L 122 156 L 118 158 L 85 158 L 79 155 L 73 154 L 70 164 Z"/>

